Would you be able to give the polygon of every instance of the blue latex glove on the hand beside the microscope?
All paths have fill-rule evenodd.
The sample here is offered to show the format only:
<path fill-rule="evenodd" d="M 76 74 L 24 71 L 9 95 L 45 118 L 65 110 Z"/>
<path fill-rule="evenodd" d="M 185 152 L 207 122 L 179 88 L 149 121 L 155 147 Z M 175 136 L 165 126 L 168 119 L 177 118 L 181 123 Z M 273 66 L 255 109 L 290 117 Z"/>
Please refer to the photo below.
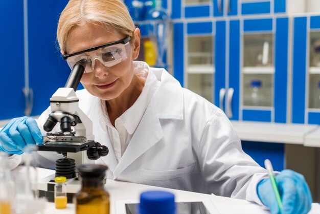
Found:
<path fill-rule="evenodd" d="M 0 151 L 22 154 L 27 144 L 42 144 L 42 135 L 31 117 L 14 118 L 0 132 Z"/>

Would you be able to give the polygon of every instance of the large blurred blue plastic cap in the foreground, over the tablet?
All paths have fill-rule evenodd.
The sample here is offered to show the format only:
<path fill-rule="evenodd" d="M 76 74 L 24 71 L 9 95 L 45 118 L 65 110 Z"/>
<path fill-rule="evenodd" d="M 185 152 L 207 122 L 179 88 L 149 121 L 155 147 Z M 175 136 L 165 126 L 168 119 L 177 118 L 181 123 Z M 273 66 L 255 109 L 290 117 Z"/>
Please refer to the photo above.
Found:
<path fill-rule="evenodd" d="M 140 195 L 140 214 L 174 214 L 174 195 L 168 191 L 145 191 Z"/>

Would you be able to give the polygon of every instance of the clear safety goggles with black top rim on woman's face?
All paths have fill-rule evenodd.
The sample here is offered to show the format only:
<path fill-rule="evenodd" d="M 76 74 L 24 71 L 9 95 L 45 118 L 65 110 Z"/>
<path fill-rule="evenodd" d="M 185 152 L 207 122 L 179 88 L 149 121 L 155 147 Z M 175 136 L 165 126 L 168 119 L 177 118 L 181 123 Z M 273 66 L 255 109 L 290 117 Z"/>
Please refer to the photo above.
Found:
<path fill-rule="evenodd" d="M 105 67 L 112 67 L 119 64 L 129 56 L 130 39 L 130 36 L 126 36 L 124 39 L 119 41 L 110 42 L 105 45 L 65 55 L 63 58 L 67 61 L 71 69 L 77 63 L 82 65 L 85 73 L 89 73 L 94 70 L 96 59 Z"/>

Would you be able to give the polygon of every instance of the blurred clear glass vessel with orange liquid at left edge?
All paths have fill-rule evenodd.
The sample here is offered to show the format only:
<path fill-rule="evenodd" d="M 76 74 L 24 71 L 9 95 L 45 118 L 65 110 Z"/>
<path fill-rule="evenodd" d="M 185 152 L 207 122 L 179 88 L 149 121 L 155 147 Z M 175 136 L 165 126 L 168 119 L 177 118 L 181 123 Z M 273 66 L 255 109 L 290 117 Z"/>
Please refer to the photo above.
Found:
<path fill-rule="evenodd" d="M 0 213 L 10 214 L 14 197 L 13 178 L 8 164 L 8 155 L 0 152 Z"/>

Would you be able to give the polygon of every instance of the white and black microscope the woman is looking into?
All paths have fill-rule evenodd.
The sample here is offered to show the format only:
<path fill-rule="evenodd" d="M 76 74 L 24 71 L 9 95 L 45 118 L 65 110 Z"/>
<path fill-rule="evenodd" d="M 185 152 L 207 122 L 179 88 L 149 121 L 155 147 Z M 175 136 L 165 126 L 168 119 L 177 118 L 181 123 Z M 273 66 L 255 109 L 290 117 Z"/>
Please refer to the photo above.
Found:
<path fill-rule="evenodd" d="M 50 98 L 51 113 L 43 125 L 47 134 L 38 150 L 57 152 L 65 158 L 56 161 L 55 175 L 41 179 L 37 184 L 39 196 L 49 201 L 54 201 L 55 177 L 65 176 L 68 202 L 72 202 L 73 195 L 80 190 L 76 166 L 94 164 L 109 152 L 106 146 L 95 142 L 93 122 L 79 108 L 75 91 L 83 73 L 83 66 L 76 64 L 64 88 L 59 88 Z M 51 133 L 58 122 L 61 131 Z"/>

